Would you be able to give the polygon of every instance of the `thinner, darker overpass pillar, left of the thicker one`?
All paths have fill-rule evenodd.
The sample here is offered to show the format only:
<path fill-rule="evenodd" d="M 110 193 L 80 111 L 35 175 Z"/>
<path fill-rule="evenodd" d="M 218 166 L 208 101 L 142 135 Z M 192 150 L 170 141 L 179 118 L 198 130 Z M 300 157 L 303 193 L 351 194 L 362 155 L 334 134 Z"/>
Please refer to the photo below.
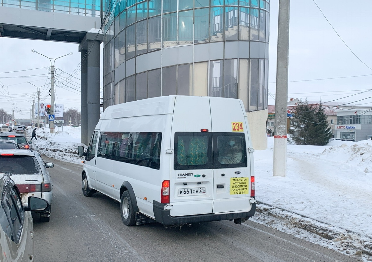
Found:
<path fill-rule="evenodd" d="M 81 62 L 81 143 L 88 145 L 88 57 L 87 50 L 80 51 Z"/>

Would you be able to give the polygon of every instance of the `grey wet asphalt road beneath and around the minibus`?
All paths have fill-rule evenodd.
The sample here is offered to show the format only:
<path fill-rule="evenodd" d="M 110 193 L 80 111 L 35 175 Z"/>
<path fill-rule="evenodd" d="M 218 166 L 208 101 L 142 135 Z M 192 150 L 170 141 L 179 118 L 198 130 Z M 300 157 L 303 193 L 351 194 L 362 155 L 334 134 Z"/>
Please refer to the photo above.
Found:
<path fill-rule="evenodd" d="M 81 165 L 53 162 L 53 203 L 48 223 L 34 220 L 35 261 L 356 261 L 254 223 L 232 221 L 164 228 L 127 227 L 120 203 L 81 192 Z"/>

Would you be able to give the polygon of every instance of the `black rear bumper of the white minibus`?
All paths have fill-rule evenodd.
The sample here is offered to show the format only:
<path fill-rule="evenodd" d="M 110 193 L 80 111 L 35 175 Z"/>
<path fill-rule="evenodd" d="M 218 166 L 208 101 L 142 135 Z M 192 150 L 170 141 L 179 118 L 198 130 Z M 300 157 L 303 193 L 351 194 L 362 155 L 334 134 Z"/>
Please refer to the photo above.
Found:
<path fill-rule="evenodd" d="M 183 217 L 171 217 L 169 210 L 164 210 L 163 204 L 157 201 L 153 202 L 153 210 L 156 222 L 163 225 L 183 225 L 192 224 L 197 222 L 211 222 L 221 220 L 233 220 L 235 218 L 249 218 L 253 217 L 256 212 L 256 203 L 252 203 L 252 208 L 248 212 L 239 213 L 224 213 L 224 214 L 201 214 L 201 215 L 190 215 Z"/>

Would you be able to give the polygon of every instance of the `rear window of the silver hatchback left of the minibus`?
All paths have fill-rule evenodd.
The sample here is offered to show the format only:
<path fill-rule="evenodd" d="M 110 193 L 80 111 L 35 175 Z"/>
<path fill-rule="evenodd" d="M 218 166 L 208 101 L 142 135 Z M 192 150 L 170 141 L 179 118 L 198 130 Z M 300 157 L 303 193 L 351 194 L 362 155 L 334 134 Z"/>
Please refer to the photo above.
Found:
<path fill-rule="evenodd" d="M 0 172 L 12 174 L 39 174 L 40 165 L 35 157 L 13 155 L 0 157 Z"/>

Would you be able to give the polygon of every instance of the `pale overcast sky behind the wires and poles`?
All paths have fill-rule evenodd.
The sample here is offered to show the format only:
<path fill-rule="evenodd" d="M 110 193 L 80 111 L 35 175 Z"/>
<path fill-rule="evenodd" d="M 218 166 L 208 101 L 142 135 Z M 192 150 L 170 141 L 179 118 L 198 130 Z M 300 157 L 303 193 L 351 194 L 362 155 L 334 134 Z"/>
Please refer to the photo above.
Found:
<path fill-rule="evenodd" d="M 270 2 L 269 104 L 275 105 L 278 1 Z M 288 100 L 361 100 L 353 104 L 372 106 L 372 98 L 369 98 L 372 97 L 372 92 L 368 91 L 372 89 L 371 10 L 371 0 L 361 0 L 357 4 L 349 0 L 291 1 Z M 73 55 L 55 62 L 55 99 L 58 104 L 64 104 L 65 110 L 80 110 L 80 53 L 77 44 L 6 37 L 0 38 L 0 108 L 9 114 L 14 108 L 15 118 L 29 118 L 31 97 L 37 100 L 37 88 L 27 81 L 42 86 L 41 101 L 50 102 L 50 85 L 46 85 L 50 82 L 47 79 L 50 61 L 32 53 L 31 49 L 50 58 L 73 52 Z M 18 70 L 27 71 L 4 73 Z M 324 78 L 332 79 L 314 80 Z M 364 93 L 359 94 L 361 92 Z"/>

